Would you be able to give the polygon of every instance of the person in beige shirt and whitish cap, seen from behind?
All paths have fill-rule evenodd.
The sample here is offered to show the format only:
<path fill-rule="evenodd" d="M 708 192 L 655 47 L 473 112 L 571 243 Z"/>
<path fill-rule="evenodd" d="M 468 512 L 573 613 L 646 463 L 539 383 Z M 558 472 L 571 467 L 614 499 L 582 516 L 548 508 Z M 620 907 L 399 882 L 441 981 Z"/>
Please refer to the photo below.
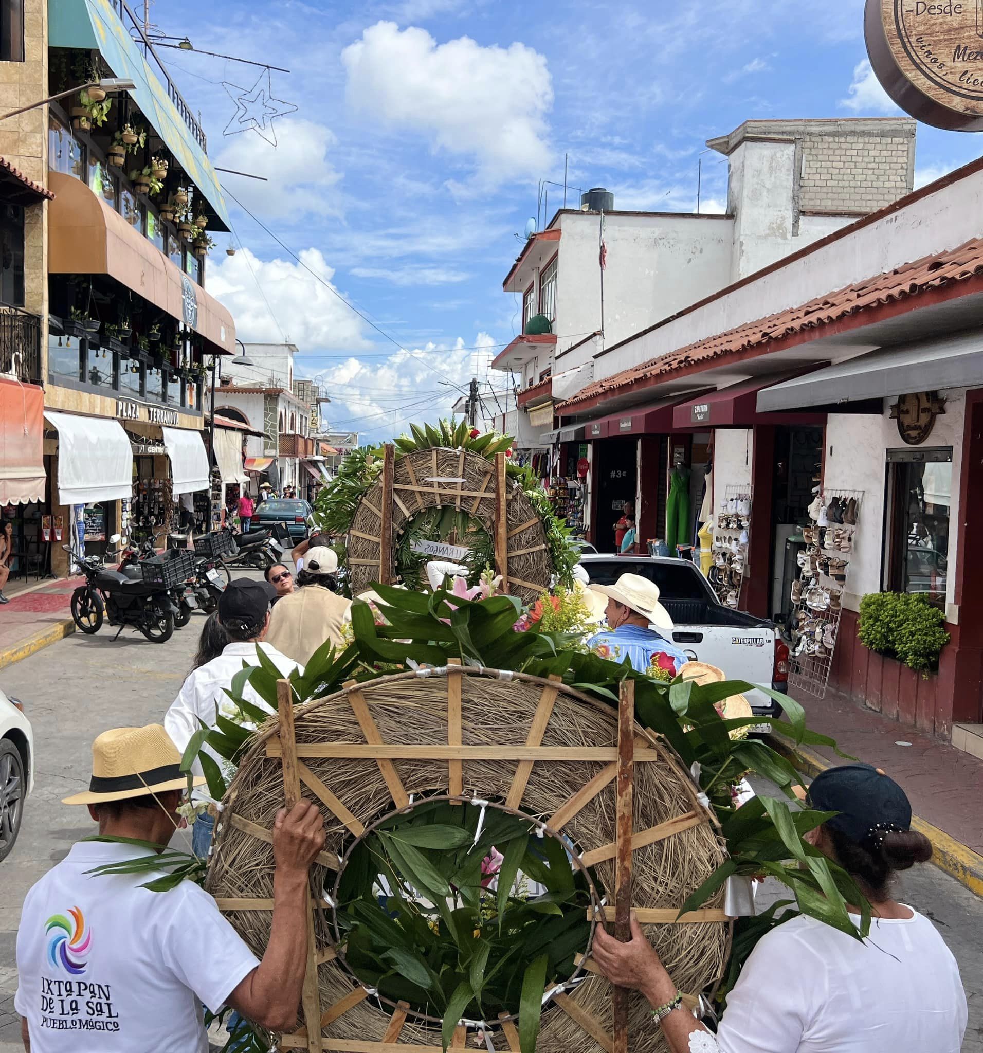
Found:
<path fill-rule="evenodd" d="M 335 594 L 337 571 L 334 549 L 308 549 L 304 569 L 297 575 L 300 588 L 277 603 L 269 619 L 269 642 L 302 665 L 325 640 L 342 645 L 341 627 L 352 601 Z"/>

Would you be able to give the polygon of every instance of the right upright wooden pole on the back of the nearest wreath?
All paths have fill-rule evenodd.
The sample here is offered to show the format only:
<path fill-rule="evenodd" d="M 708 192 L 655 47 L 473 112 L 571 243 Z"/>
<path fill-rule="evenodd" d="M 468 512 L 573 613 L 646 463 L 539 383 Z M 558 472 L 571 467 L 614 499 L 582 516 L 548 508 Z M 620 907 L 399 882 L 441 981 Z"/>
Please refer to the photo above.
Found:
<path fill-rule="evenodd" d="M 615 827 L 615 936 L 631 938 L 633 767 L 635 761 L 635 681 L 627 677 L 618 691 L 618 797 Z M 628 989 L 611 992 L 614 1053 L 628 1053 Z"/>

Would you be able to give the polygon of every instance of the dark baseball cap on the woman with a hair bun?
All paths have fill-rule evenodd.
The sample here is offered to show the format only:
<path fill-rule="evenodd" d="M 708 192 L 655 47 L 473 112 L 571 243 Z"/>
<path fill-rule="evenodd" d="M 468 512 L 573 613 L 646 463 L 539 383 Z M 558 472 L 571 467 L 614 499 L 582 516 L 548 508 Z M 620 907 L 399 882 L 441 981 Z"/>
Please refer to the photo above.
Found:
<path fill-rule="evenodd" d="M 828 768 L 813 779 L 809 806 L 839 812 L 828 821 L 858 845 L 888 830 L 911 829 L 911 802 L 898 783 L 870 764 Z"/>

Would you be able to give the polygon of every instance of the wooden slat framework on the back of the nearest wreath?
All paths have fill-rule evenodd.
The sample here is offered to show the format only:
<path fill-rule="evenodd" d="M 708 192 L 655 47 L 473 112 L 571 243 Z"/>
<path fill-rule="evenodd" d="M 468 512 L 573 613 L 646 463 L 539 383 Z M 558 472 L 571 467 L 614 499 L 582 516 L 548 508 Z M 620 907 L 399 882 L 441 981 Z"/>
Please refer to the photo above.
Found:
<path fill-rule="evenodd" d="M 364 691 L 369 690 L 373 683 L 394 681 L 399 679 L 412 680 L 414 674 L 397 674 L 396 676 L 383 678 L 380 681 L 369 681 L 360 684 L 357 681 L 349 681 L 344 686 L 343 697 L 350 706 L 358 724 L 365 738 L 365 743 L 353 742 L 297 742 L 295 711 L 292 698 L 290 686 L 287 680 L 278 681 L 278 716 L 275 728 L 267 726 L 262 733 L 260 743 L 254 747 L 250 756 L 257 751 L 268 758 L 278 758 L 282 766 L 283 798 L 287 807 L 296 803 L 303 789 L 309 791 L 309 795 L 320 802 L 328 813 L 340 821 L 347 831 L 355 836 L 361 836 L 365 832 L 363 823 L 354 815 L 318 776 L 310 771 L 304 762 L 312 758 L 344 759 L 372 759 L 378 766 L 379 772 L 392 795 L 394 804 L 397 808 L 405 808 L 410 803 L 399 773 L 396 770 L 394 760 L 419 760 L 426 759 L 446 762 L 446 789 L 450 796 L 459 796 L 463 791 L 462 770 L 463 763 L 467 760 L 488 760 L 503 762 L 516 762 L 515 774 L 511 778 L 505 804 L 509 808 L 518 808 L 523 802 L 529 776 L 534 764 L 550 762 L 570 761 L 596 761 L 602 762 L 604 767 L 599 774 L 586 781 L 568 799 L 557 809 L 544 823 L 550 831 L 560 831 L 575 816 L 577 816 L 591 800 L 601 794 L 605 788 L 614 781 L 616 783 L 617 802 L 617 836 L 615 841 L 599 845 L 596 848 L 584 851 L 581 855 L 581 862 L 586 867 L 602 863 L 605 860 L 615 859 L 615 876 L 617 889 L 616 901 L 603 908 L 604 920 L 615 922 L 615 932 L 620 938 L 627 938 L 629 934 L 629 911 L 631 898 L 631 869 L 634 853 L 647 846 L 671 838 L 683 831 L 704 823 L 716 822 L 713 813 L 700 804 L 697 800 L 695 789 L 689 788 L 688 780 L 682 775 L 682 784 L 687 787 L 687 794 L 691 799 L 690 809 L 674 818 L 661 822 L 658 826 L 635 833 L 633 831 L 633 791 L 634 791 L 634 769 L 638 763 L 660 761 L 668 763 L 669 767 L 678 769 L 678 764 L 673 756 L 661 746 L 659 740 L 635 722 L 635 700 L 634 683 L 630 680 L 622 682 L 620 690 L 618 709 L 618 744 L 617 748 L 580 746 L 580 747 L 547 747 L 542 741 L 546 729 L 554 712 L 557 695 L 560 691 L 567 696 L 580 698 L 583 701 L 597 706 L 598 703 L 581 695 L 573 689 L 562 684 L 558 677 L 541 679 L 526 676 L 524 674 L 499 674 L 496 671 L 485 669 L 462 668 L 455 660 L 450 660 L 445 669 L 428 671 L 429 675 L 446 679 L 447 699 L 447 744 L 445 747 L 426 744 L 394 744 L 383 742 L 379 729 L 369 711 L 369 706 L 365 699 Z M 541 688 L 539 700 L 533 716 L 525 744 L 483 747 L 483 746 L 462 746 L 461 729 L 461 698 L 462 678 L 464 676 L 500 676 L 511 679 L 522 679 L 537 683 Z M 321 704 L 325 700 L 317 700 L 304 707 L 300 712 L 312 706 Z M 248 757 L 246 758 L 248 760 Z M 680 771 L 680 774 L 681 771 Z M 272 833 L 263 827 L 253 823 L 249 820 L 235 814 L 234 806 L 236 799 L 235 783 L 226 798 L 226 808 L 230 808 L 232 814 L 219 823 L 219 837 L 216 848 L 216 857 L 222 853 L 222 845 L 229 830 L 236 830 L 247 834 L 249 837 L 272 843 Z M 462 800 L 467 799 L 463 798 Z M 224 831 L 223 831 L 224 826 Z M 322 852 L 318 862 L 328 870 L 336 870 L 340 866 L 340 858 L 332 852 Z M 219 909 L 226 914 L 235 916 L 238 912 L 272 912 L 272 898 L 230 898 L 222 896 L 220 889 L 214 888 L 209 874 L 208 887 L 212 891 L 218 892 L 217 903 Z M 716 897 L 720 900 L 720 895 Z M 316 899 L 312 888 L 307 891 L 307 942 L 306 957 L 307 967 L 304 978 L 302 995 L 303 1025 L 294 1033 L 280 1037 L 279 1048 L 281 1049 L 306 1049 L 312 1053 L 322 1053 L 330 1050 L 338 1053 L 397 1053 L 398 1050 L 406 1049 L 422 1051 L 422 1053 L 442 1053 L 440 1046 L 421 1045 L 418 1042 L 400 1041 L 400 1036 L 406 1025 L 407 1016 L 410 1013 L 409 1006 L 399 1002 L 393 1012 L 385 1032 L 379 1041 L 375 1040 L 353 1040 L 332 1037 L 324 1034 L 325 1029 L 359 1006 L 373 992 L 365 987 L 358 986 L 345 996 L 328 1006 L 323 1006 L 320 999 L 318 969 L 320 966 L 333 961 L 338 957 L 336 950 L 329 946 L 318 946 L 316 938 L 316 914 L 318 911 L 329 909 L 330 905 L 323 899 Z M 596 909 L 587 909 L 587 918 L 596 919 Z M 642 925 L 689 925 L 689 923 L 716 923 L 726 928 L 729 942 L 729 922 L 725 912 L 720 907 L 708 907 L 687 914 L 680 915 L 674 908 L 635 908 L 635 913 Z M 577 963 L 582 970 L 588 973 L 599 974 L 593 959 L 583 958 L 578 955 Z M 550 989 L 547 989 L 549 991 Z M 602 1049 L 604 1053 L 627 1053 L 628 1049 L 628 992 L 614 988 L 613 998 L 613 1024 L 609 1032 L 604 1024 L 591 1013 L 587 1012 L 581 1005 L 566 991 L 554 990 L 551 993 L 553 1002 L 558 1006 L 574 1024 L 582 1029 L 588 1036 L 589 1042 Z M 696 1005 L 696 997 L 690 994 L 684 995 L 687 1006 Z M 507 1040 L 507 1048 L 510 1053 L 519 1053 L 519 1036 L 513 1020 L 507 1018 L 507 1014 L 500 1014 L 500 1024 L 503 1035 Z M 319 1026 L 316 1026 L 319 1021 Z M 452 1048 L 463 1048 L 466 1040 L 467 1029 L 459 1026 L 455 1032 Z M 659 1045 L 658 1028 L 654 1027 L 648 1040 L 642 1040 L 643 1036 L 637 1036 L 638 1040 L 633 1040 L 633 1049 L 653 1050 Z"/>

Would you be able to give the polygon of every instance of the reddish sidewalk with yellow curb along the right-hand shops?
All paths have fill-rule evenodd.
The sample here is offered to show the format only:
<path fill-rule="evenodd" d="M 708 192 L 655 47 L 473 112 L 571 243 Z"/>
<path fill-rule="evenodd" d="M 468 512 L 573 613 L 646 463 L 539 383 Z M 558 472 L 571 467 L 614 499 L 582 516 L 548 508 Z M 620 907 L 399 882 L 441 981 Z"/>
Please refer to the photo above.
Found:
<path fill-rule="evenodd" d="M 836 739 L 844 753 L 882 768 L 901 783 L 920 820 L 916 826 L 935 847 L 935 861 L 983 895 L 983 810 L 978 807 L 983 799 L 983 760 L 834 691 L 824 699 L 798 697 L 808 728 Z M 826 747 L 806 747 L 799 753 L 811 769 L 809 774 L 847 763 Z"/>

